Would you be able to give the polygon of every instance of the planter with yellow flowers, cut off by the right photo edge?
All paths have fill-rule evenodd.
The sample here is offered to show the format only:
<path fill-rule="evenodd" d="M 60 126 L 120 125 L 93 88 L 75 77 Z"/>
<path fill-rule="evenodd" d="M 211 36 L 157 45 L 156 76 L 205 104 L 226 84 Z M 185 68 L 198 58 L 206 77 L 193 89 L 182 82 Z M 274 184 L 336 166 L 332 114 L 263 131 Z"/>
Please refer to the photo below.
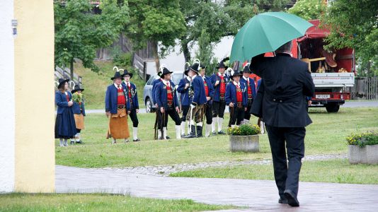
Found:
<path fill-rule="evenodd" d="M 378 164 L 378 133 L 371 131 L 350 134 L 346 137 L 349 145 L 349 163 Z"/>

